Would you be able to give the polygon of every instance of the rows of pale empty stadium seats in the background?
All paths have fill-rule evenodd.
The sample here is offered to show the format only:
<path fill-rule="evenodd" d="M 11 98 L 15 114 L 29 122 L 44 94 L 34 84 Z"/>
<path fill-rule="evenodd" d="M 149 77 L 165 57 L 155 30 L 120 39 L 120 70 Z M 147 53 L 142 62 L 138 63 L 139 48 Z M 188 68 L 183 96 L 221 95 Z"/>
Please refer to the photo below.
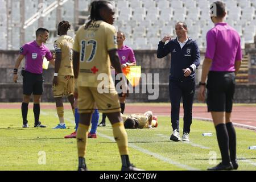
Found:
<path fill-rule="evenodd" d="M 72 27 L 77 27 L 75 22 L 75 2 L 78 3 L 78 11 L 87 20 L 89 15 L 89 4 L 92 0 L 68 0 L 61 6 L 60 19 L 69 20 L 73 23 Z M 152 48 L 153 40 L 159 40 L 164 35 L 175 37 L 175 23 L 184 21 L 188 25 L 189 36 L 198 40 L 200 48 L 205 48 L 205 36 L 207 31 L 213 27 L 209 18 L 209 6 L 214 0 L 110 0 L 116 10 L 116 20 L 114 26 L 117 30 L 125 32 L 126 39 L 134 49 L 142 48 L 144 39 L 147 39 L 144 48 Z M 255 27 L 255 7 L 256 0 L 223 0 L 226 3 L 228 15 L 226 22 L 233 26 L 242 36 L 241 43 L 254 43 Z M 0 37 L 2 45 L 0 49 L 17 49 L 20 45 L 20 37 L 10 37 L 7 35 L 7 11 L 6 0 L 0 0 L 0 30 L 5 31 Z M 43 0 L 39 4 L 38 0 L 24 0 L 25 21 L 31 18 L 40 7 L 47 7 L 56 0 Z M 9 30 L 20 32 L 20 7 L 22 2 L 11 1 L 11 25 Z M 80 16 L 79 15 L 79 16 Z M 43 25 L 50 30 L 50 34 L 56 35 L 57 10 L 52 10 L 49 14 L 43 15 Z M 29 42 L 35 39 L 35 30 L 39 27 L 36 20 L 25 30 L 24 40 Z M 76 30 L 76 29 L 75 29 Z M 72 32 L 74 32 L 73 30 Z M 1 31 L 1 32 L 2 32 Z M 72 33 L 73 34 L 73 33 Z M 143 41 L 137 42 L 138 38 Z M 9 45 L 7 45 L 7 42 Z"/>

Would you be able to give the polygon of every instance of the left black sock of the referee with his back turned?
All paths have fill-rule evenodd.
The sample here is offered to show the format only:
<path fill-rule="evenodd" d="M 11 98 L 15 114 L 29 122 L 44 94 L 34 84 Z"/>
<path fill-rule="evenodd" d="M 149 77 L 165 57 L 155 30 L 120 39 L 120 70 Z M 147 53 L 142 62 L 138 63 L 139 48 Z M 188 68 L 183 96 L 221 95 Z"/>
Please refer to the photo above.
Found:
<path fill-rule="evenodd" d="M 218 124 L 216 127 L 218 147 L 220 147 L 221 158 L 223 164 L 229 164 L 229 135 L 225 124 Z"/>

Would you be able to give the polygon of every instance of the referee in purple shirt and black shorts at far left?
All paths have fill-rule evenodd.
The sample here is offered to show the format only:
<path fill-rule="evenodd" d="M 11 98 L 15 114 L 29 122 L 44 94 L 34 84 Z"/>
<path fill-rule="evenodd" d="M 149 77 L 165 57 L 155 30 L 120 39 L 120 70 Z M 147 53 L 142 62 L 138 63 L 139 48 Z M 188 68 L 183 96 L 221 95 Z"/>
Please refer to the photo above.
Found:
<path fill-rule="evenodd" d="M 23 126 L 28 127 L 27 123 L 27 112 L 28 112 L 28 103 L 30 102 L 31 93 L 33 94 L 34 100 L 34 117 L 35 125 L 34 127 L 46 127 L 41 124 L 39 121 L 40 115 L 40 98 L 43 94 L 43 60 L 44 57 L 54 65 L 54 60 L 52 53 L 49 49 L 44 46 L 43 43 L 46 43 L 49 36 L 49 31 L 46 28 L 38 28 L 36 30 L 36 40 L 24 44 L 19 49 L 19 57 L 16 60 L 14 67 L 14 76 L 13 81 L 17 82 L 18 80 L 18 68 L 23 60 L 26 57 L 25 68 L 22 70 L 23 76 L 23 101 L 22 101 L 22 118 Z"/>

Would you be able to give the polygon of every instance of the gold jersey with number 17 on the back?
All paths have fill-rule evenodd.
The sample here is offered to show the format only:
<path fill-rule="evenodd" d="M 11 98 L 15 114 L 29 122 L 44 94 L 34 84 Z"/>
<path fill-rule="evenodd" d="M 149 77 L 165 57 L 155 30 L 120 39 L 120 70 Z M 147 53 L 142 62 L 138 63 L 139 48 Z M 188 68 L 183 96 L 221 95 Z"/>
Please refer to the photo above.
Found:
<path fill-rule="evenodd" d="M 102 82 L 98 80 L 101 73 L 108 76 L 109 88 L 114 86 L 108 51 L 117 49 L 116 40 L 115 27 L 102 20 L 92 22 L 88 28 L 85 24 L 79 28 L 73 46 L 80 53 L 79 86 L 97 87 Z"/>

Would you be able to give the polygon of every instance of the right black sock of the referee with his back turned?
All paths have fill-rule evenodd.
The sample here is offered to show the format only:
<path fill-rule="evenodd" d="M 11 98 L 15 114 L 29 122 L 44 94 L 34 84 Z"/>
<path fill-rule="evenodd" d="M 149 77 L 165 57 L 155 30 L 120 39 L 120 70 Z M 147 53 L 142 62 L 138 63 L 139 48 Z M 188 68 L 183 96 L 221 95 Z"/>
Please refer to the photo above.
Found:
<path fill-rule="evenodd" d="M 236 138 L 236 130 L 234 129 L 233 123 L 229 122 L 226 123 L 226 130 L 228 130 L 229 135 L 229 152 L 230 152 L 230 159 L 236 160 L 237 159 L 237 138 Z"/>

